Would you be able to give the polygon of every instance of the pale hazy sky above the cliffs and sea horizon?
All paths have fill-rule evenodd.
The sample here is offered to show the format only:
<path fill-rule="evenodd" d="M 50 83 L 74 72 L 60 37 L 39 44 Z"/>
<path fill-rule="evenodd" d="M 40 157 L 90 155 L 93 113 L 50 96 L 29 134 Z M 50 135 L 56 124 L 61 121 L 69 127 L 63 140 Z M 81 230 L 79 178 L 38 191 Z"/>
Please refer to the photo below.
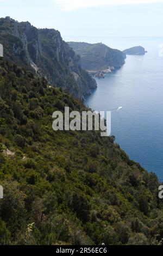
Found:
<path fill-rule="evenodd" d="M 163 0 L 0 0 L 0 16 L 64 36 L 163 36 Z"/>

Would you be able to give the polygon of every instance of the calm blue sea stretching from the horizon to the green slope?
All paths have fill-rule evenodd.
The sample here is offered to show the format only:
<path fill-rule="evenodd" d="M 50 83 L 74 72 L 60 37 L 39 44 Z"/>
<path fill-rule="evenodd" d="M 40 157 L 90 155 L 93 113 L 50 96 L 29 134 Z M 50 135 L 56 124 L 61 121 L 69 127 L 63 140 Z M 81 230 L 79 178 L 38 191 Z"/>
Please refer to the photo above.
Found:
<path fill-rule="evenodd" d="M 69 39 L 70 40 L 70 39 Z M 111 113 L 111 134 L 129 157 L 163 181 L 163 38 L 73 38 L 74 41 L 103 42 L 124 50 L 141 45 L 145 56 L 127 56 L 126 64 L 104 79 L 85 104 L 96 111 L 122 106 Z"/>

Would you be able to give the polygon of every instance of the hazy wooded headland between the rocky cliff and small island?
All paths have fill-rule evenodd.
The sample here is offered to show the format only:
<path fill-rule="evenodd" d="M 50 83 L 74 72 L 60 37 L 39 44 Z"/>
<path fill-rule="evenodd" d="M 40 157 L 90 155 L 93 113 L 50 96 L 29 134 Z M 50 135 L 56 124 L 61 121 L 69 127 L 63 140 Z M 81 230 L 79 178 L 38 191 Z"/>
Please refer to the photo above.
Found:
<path fill-rule="evenodd" d="M 82 68 L 85 70 L 108 70 L 110 72 L 121 68 L 124 64 L 123 52 L 102 43 L 68 42 L 68 44 L 76 54 L 80 55 Z"/>

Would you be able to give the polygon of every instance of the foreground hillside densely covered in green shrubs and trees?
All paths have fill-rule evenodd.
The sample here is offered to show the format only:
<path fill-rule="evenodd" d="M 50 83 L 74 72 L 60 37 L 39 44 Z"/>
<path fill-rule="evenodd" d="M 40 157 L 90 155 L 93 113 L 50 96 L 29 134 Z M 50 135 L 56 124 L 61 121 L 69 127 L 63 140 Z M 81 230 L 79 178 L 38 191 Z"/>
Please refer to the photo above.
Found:
<path fill-rule="evenodd" d="M 0 244 L 158 245 L 159 182 L 95 131 L 53 131 L 86 107 L 0 58 Z"/>

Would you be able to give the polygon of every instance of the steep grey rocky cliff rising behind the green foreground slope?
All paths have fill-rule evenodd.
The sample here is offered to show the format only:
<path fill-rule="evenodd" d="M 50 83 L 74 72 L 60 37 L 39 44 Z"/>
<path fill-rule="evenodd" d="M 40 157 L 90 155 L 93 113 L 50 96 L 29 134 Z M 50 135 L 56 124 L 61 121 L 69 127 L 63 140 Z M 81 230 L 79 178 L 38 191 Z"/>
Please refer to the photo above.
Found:
<path fill-rule="evenodd" d="M 82 69 L 80 58 L 55 29 L 37 29 L 29 22 L 0 19 L 4 57 L 33 69 L 47 81 L 82 99 L 96 88 L 96 81 Z"/>

